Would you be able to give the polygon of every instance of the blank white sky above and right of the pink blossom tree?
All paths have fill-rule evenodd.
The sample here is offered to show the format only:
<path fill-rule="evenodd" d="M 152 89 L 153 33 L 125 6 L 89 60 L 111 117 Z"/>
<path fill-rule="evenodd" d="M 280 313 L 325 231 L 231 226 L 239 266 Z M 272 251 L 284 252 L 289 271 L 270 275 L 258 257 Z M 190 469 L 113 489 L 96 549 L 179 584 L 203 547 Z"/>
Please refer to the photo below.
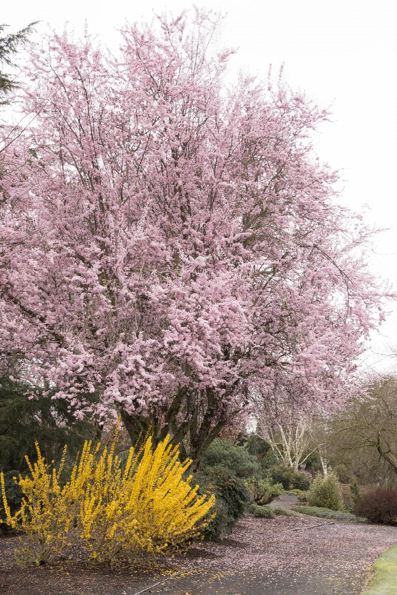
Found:
<path fill-rule="evenodd" d="M 196 0 L 199 7 L 226 14 L 218 43 L 239 48 L 231 73 L 238 69 L 267 76 L 268 65 L 284 79 L 305 90 L 320 107 L 332 104 L 333 123 L 323 126 L 316 151 L 324 161 L 343 168 L 342 202 L 361 211 L 365 220 L 387 228 L 377 237 L 371 268 L 392 281 L 397 290 L 397 3 L 389 0 Z M 5 1 L 0 23 L 10 30 L 41 20 L 62 30 L 66 21 L 91 33 L 104 45 L 117 47 L 115 31 L 126 20 L 150 21 L 154 12 L 179 14 L 190 8 L 180 0 L 29 0 Z M 381 334 L 374 334 L 366 364 L 386 369 L 397 360 L 385 353 L 397 350 L 397 304 Z"/>

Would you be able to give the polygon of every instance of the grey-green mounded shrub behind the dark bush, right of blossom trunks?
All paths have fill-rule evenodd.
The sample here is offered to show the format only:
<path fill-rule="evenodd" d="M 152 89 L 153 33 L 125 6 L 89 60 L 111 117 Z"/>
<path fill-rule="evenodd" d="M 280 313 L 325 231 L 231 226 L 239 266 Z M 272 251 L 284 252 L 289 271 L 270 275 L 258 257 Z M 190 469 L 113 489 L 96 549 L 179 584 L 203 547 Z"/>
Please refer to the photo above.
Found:
<path fill-rule="evenodd" d="M 260 478 L 261 466 L 254 455 L 250 455 L 243 446 L 237 446 L 233 440 L 215 439 L 201 459 L 204 466 L 222 465 L 233 471 L 237 477 Z"/>

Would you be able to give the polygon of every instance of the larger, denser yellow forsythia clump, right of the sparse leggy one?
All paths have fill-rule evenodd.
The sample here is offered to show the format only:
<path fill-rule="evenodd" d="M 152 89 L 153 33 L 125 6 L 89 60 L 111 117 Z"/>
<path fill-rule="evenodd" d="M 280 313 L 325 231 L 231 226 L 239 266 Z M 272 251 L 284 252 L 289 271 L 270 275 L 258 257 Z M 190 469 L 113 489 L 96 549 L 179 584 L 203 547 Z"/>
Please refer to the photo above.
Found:
<path fill-rule="evenodd" d="M 180 463 L 168 438 L 153 449 L 149 437 L 143 449 L 130 449 L 122 470 L 113 449 L 114 444 L 95 461 L 87 444 L 77 471 L 77 477 L 89 478 L 80 497 L 80 522 L 90 556 L 101 562 L 121 554 L 134 559 L 196 537 L 215 498 L 198 496 L 192 478 L 183 479 L 191 461 Z"/>

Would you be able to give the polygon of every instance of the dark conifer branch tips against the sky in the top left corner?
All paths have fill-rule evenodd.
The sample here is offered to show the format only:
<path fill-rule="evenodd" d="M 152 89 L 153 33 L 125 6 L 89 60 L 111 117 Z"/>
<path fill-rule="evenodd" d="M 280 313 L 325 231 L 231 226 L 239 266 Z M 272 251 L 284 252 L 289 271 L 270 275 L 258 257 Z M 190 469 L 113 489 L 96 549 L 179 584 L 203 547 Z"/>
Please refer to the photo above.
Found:
<path fill-rule="evenodd" d="M 17 87 L 12 74 L 9 71 L 6 73 L 3 69 L 4 67 L 10 69 L 15 66 L 14 56 L 20 45 L 26 43 L 27 37 L 32 33 L 35 24 L 30 23 L 17 33 L 7 33 L 6 35 L 2 34 L 7 25 L 0 24 L 0 105 L 5 103 L 5 96 Z"/>

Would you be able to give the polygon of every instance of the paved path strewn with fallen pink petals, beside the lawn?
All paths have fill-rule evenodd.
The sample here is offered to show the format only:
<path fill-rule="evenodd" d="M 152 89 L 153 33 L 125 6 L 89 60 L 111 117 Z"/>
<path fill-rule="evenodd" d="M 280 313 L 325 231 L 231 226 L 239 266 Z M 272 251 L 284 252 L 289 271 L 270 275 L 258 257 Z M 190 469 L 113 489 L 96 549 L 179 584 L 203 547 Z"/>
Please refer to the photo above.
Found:
<path fill-rule="evenodd" d="M 358 595 L 374 560 L 397 543 L 397 529 L 330 522 L 308 516 L 247 516 L 237 523 L 229 539 L 202 544 L 190 553 L 190 566 L 202 565 L 202 569 L 173 578 L 148 593 Z M 320 527 L 310 528 L 318 524 Z M 184 565 L 186 561 L 180 559 L 180 568 Z M 126 590 L 126 595 L 134 593 Z"/>

